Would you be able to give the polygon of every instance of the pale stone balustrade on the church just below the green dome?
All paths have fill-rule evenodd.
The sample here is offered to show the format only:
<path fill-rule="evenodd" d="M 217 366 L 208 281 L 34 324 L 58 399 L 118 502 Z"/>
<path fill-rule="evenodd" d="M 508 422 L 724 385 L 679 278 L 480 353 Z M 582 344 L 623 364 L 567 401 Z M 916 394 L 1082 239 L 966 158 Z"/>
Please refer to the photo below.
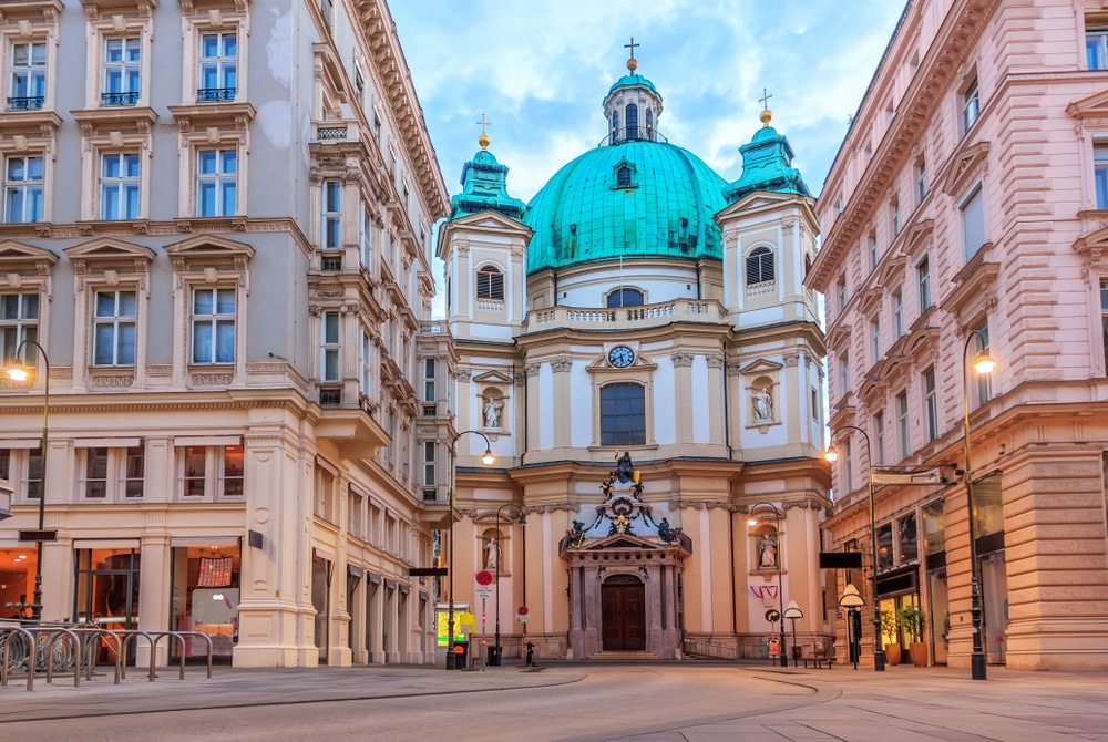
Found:
<path fill-rule="evenodd" d="M 538 332 L 553 328 L 576 330 L 633 330 L 661 327 L 670 322 L 700 322 L 718 324 L 726 313 L 716 301 L 677 299 L 664 303 L 618 309 L 585 309 L 581 307 L 552 307 L 527 312 L 524 328 Z"/>

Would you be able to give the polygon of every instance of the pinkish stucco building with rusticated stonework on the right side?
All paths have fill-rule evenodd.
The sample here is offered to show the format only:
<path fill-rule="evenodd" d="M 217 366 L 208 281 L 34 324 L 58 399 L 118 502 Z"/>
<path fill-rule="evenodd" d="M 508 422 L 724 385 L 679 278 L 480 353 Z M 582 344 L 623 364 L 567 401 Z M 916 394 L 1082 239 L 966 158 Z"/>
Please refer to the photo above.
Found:
<path fill-rule="evenodd" d="M 806 285 L 830 427 L 860 429 L 823 527 L 935 663 L 971 663 L 976 577 L 988 663 L 1108 666 L 1106 40 L 1101 2 L 907 3 L 821 195 Z"/>

